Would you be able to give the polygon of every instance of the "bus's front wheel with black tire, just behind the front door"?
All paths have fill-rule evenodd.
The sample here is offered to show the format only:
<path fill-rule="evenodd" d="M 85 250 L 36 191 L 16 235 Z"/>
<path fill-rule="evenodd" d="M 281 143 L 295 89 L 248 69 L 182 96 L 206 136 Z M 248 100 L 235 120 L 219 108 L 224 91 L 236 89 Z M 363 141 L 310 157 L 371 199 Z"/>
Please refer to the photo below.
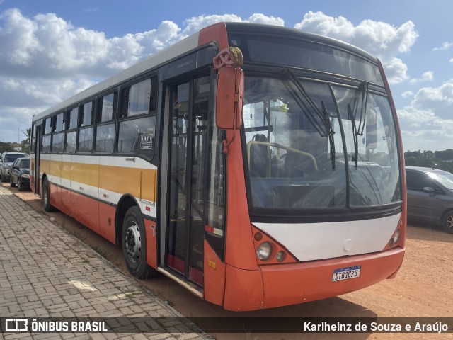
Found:
<path fill-rule="evenodd" d="M 129 208 L 122 223 L 122 254 L 127 270 L 136 278 L 149 278 L 157 271 L 147 263 L 147 243 L 142 212 L 137 206 Z"/>

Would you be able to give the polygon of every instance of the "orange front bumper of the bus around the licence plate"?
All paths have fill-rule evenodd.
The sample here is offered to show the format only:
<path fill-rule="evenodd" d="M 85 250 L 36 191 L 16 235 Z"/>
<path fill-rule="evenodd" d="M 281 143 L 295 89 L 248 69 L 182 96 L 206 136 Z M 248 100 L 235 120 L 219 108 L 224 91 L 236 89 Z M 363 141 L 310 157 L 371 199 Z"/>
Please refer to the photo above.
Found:
<path fill-rule="evenodd" d="M 403 262 L 404 249 L 311 261 L 260 266 L 244 271 L 227 266 L 224 308 L 258 310 L 326 299 L 393 278 Z M 333 271 L 360 266 L 360 276 L 332 281 Z"/>

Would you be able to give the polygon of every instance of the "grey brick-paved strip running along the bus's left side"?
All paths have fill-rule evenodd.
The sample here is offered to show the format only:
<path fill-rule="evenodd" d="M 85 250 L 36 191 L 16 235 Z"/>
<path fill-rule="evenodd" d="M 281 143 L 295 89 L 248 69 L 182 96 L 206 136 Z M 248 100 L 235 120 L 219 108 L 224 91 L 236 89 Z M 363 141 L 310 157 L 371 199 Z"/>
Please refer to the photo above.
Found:
<path fill-rule="evenodd" d="M 96 251 L 2 186 L 0 317 L 124 318 L 117 319 L 117 333 L 0 332 L 0 339 L 2 335 L 5 339 L 209 338 Z M 127 321 L 134 320 L 125 318 L 139 317 L 145 318 L 139 319 L 144 324 L 132 326 L 151 327 L 153 333 L 121 333 L 127 329 Z"/>

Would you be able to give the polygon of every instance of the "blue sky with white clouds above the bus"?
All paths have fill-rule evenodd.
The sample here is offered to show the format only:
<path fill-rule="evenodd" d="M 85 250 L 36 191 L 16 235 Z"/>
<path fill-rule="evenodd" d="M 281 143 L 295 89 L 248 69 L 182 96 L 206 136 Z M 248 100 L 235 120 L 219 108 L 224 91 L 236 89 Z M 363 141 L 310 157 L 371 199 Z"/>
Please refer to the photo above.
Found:
<path fill-rule="evenodd" d="M 0 141 L 33 115 L 219 21 L 327 35 L 379 57 L 403 149 L 453 149 L 451 0 L 0 0 Z"/>

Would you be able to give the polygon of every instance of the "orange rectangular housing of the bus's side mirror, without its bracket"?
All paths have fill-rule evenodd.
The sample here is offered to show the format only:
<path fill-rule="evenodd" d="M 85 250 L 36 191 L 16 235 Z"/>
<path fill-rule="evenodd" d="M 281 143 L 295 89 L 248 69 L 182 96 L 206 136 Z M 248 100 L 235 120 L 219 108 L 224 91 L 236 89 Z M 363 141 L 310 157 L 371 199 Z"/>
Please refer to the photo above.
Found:
<path fill-rule="evenodd" d="M 216 124 L 221 130 L 238 130 L 242 123 L 243 69 L 222 67 L 217 74 Z"/>

